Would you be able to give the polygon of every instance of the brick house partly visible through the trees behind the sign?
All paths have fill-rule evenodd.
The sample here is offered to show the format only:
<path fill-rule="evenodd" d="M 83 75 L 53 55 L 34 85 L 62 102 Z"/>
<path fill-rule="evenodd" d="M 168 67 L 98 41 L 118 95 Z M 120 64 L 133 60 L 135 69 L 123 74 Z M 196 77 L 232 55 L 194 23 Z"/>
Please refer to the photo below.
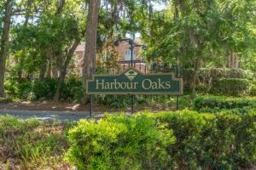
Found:
<path fill-rule="evenodd" d="M 135 38 L 136 43 L 140 43 L 140 38 Z M 79 46 L 75 50 L 75 67 L 76 71 L 82 75 L 83 71 L 83 65 L 84 65 L 84 48 L 85 48 L 85 42 L 81 42 Z M 108 48 L 109 50 L 109 48 Z M 141 54 L 141 47 L 135 47 L 133 50 L 133 65 L 140 71 L 146 72 L 147 71 L 147 65 L 143 60 L 143 56 Z M 110 66 L 115 68 L 110 69 L 119 69 L 120 71 L 123 71 L 131 66 L 131 49 L 129 42 L 119 42 L 119 45 L 114 48 L 114 51 L 117 52 L 117 58 L 116 63 L 117 66 Z M 106 52 L 106 53 L 105 53 Z M 96 54 L 96 60 L 100 60 L 99 63 L 107 62 L 108 52 L 103 50 L 102 54 Z M 97 65 L 98 66 L 98 65 Z"/>

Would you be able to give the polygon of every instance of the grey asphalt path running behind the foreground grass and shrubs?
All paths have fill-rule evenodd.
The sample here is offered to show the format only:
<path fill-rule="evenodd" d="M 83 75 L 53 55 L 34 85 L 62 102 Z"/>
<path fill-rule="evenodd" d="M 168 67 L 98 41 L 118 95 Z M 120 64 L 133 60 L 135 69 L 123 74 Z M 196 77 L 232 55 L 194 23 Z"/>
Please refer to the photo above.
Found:
<path fill-rule="evenodd" d="M 36 118 L 38 120 L 51 122 L 77 122 L 79 119 L 90 118 L 89 112 L 82 111 L 18 111 L 18 110 L 0 110 L 0 116 L 17 116 L 20 118 Z M 93 117 L 99 118 L 104 116 L 103 113 L 94 112 Z"/>

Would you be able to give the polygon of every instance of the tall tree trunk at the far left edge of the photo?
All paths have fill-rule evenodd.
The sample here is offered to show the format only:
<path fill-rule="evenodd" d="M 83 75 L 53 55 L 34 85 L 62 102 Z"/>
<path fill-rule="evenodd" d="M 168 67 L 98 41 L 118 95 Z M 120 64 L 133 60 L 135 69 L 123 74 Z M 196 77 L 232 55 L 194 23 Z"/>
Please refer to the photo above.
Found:
<path fill-rule="evenodd" d="M 12 15 L 13 0 L 7 0 L 5 14 L 3 17 L 3 34 L 0 49 L 0 97 L 4 94 L 4 76 L 5 76 L 5 62 L 8 53 L 8 42 L 9 42 L 9 28 L 10 20 Z"/>

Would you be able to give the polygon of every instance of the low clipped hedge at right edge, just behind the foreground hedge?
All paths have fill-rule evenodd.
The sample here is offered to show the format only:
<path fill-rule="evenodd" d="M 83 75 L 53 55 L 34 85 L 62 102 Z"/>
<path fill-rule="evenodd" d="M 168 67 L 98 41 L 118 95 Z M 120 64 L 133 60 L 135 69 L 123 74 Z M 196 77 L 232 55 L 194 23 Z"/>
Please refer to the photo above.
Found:
<path fill-rule="evenodd" d="M 193 100 L 193 110 L 217 112 L 232 109 L 256 108 L 256 98 L 230 98 L 224 96 L 200 96 Z"/>

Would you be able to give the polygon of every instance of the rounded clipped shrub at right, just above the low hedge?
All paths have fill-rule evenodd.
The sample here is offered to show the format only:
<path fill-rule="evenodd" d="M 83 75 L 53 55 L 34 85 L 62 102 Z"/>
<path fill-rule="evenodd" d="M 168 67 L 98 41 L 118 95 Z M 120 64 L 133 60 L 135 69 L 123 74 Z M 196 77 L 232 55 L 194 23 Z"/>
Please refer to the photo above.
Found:
<path fill-rule="evenodd" d="M 250 83 L 247 79 L 221 78 L 212 81 L 211 94 L 242 96 L 248 94 Z"/>

